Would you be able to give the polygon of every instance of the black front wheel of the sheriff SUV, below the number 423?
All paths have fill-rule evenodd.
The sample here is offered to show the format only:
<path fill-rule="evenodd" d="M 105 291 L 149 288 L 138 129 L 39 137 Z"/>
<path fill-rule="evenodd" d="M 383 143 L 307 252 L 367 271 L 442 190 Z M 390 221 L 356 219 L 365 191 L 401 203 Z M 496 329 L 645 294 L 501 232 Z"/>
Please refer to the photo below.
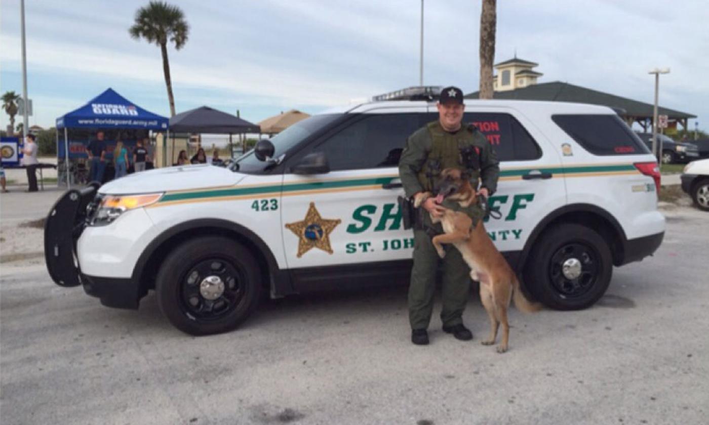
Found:
<path fill-rule="evenodd" d="M 256 308 L 261 276 L 244 246 L 225 237 L 199 237 L 167 256 L 155 290 L 160 310 L 177 329 L 218 334 L 238 327 Z"/>

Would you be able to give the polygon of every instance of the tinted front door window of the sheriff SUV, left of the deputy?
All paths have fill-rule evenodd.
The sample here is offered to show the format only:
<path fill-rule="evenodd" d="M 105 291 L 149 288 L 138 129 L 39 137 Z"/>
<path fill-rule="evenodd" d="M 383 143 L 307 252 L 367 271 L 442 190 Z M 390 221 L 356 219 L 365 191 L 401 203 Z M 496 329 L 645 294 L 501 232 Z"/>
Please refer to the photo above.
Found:
<path fill-rule="evenodd" d="M 421 127 L 420 113 L 364 115 L 313 149 L 325 152 L 330 169 L 397 166 L 406 139 Z"/>

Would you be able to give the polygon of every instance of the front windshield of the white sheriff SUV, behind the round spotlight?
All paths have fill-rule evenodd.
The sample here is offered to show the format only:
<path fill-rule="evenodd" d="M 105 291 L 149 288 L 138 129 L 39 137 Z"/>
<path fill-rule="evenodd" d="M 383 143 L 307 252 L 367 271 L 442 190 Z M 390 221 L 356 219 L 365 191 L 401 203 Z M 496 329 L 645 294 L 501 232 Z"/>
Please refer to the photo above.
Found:
<path fill-rule="evenodd" d="M 275 148 L 273 157 L 278 158 L 282 154 L 288 154 L 289 150 L 296 147 L 300 142 L 327 127 L 341 116 L 341 114 L 313 115 L 279 132 L 271 139 Z M 235 164 L 230 166 L 230 169 L 240 173 L 258 173 L 263 171 L 267 165 L 267 162 L 259 161 L 254 154 L 254 149 L 251 149 L 236 159 Z"/>

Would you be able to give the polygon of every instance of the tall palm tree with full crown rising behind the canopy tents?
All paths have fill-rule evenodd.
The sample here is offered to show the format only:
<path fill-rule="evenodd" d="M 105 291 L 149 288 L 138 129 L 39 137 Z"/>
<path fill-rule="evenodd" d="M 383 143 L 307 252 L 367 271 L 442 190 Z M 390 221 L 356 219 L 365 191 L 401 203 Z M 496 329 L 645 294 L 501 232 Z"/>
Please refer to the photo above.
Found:
<path fill-rule="evenodd" d="M 175 101 L 172 96 L 170 64 L 167 60 L 167 42 L 174 42 L 175 50 L 180 50 L 187 42 L 189 26 L 184 20 L 184 13 L 177 6 L 170 6 L 164 1 L 150 1 L 146 7 L 135 12 L 135 23 L 128 30 L 136 40 L 145 38 L 147 42 L 160 46 L 162 52 L 162 70 L 167 85 L 167 98 L 170 102 L 170 116 L 175 115 Z"/>

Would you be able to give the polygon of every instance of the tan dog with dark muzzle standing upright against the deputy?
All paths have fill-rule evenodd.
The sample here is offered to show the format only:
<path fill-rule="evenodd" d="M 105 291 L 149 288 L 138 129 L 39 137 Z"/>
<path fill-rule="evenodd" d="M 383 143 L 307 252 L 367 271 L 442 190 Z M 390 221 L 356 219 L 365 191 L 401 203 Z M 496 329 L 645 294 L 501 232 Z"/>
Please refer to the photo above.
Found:
<path fill-rule="evenodd" d="M 440 183 L 434 189 L 436 203 L 444 199 L 454 200 L 462 207 L 468 207 L 476 202 L 476 192 L 471 186 L 469 176 L 458 169 L 442 171 Z M 414 206 L 418 208 L 431 194 L 419 193 L 414 198 Z M 520 283 L 500 251 L 485 231 L 483 220 L 473 227 L 473 220 L 464 212 L 445 210 L 442 217 L 433 217 L 434 223 L 440 222 L 445 234 L 432 238 L 438 255 L 443 258 L 445 251 L 441 244 L 453 244 L 462 254 L 463 259 L 471 268 L 470 276 L 480 282 L 480 299 L 490 317 L 490 337 L 482 341 L 483 345 L 495 344 L 497 331 L 502 324 L 502 341 L 497 347 L 498 353 L 508 349 L 510 325 L 507 320 L 507 310 L 510 299 L 514 298 L 515 307 L 522 312 L 535 312 L 540 305 L 530 302 L 520 290 Z"/>

